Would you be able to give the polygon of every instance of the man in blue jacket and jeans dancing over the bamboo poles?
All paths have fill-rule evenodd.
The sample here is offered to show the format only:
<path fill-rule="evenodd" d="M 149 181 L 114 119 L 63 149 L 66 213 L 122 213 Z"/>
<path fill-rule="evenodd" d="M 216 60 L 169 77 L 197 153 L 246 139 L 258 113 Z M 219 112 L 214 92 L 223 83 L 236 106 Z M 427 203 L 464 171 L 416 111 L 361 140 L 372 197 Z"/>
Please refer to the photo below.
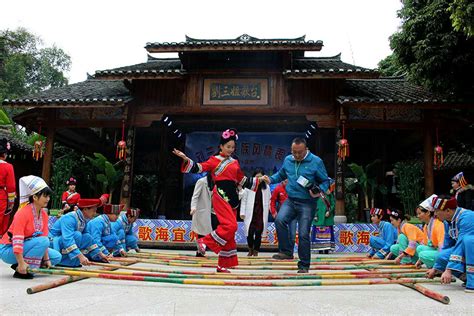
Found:
<path fill-rule="evenodd" d="M 280 170 L 271 177 L 262 179 L 270 183 L 279 183 L 288 179 L 286 192 L 288 199 L 283 203 L 275 219 L 279 253 L 274 259 L 293 259 L 288 224 L 298 221 L 298 273 L 307 273 L 311 263 L 310 229 L 316 213 L 319 192 L 329 188 L 329 178 L 324 163 L 313 155 L 303 138 L 295 138 L 291 144 L 291 155 L 283 161 Z"/>

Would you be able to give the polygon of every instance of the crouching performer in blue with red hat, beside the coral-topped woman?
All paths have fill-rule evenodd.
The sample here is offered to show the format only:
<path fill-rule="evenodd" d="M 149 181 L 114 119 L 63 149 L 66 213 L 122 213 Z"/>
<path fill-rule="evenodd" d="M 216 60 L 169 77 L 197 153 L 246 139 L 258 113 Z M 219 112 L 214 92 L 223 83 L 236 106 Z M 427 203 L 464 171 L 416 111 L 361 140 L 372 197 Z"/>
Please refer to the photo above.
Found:
<path fill-rule="evenodd" d="M 78 208 L 60 217 L 51 227 L 49 238 L 50 247 L 62 254 L 60 265 L 66 267 L 79 267 L 89 265 L 89 259 L 101 256 L 97 244 L 92 241 L 92 236 L 85 233 L 87 223 L 94 218 L 97 208 L 109 199 L 108 194 L 103 194 L 99 199 L 80 199 Z M 102 254 L 102 257 L 106 257 Z"/>

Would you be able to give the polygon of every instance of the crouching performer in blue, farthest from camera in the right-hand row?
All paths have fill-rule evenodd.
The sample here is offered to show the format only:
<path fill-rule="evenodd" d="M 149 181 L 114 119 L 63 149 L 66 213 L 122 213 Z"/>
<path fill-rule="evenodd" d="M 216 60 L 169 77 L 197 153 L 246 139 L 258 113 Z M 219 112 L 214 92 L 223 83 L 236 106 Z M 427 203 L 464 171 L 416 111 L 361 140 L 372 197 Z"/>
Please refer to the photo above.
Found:
<path fill-rule="evenodd" d="M 381 208 L 370 210 L 372 223 L 378 225 L 378 236 L 370 236 L 369 243 L 372 249 L 367 255 L 369 258 L 384 259 L 390 252 L 390 247 L 397 240 L 397 230 L 395 227 L 383 220 L 385 211 Z"/>

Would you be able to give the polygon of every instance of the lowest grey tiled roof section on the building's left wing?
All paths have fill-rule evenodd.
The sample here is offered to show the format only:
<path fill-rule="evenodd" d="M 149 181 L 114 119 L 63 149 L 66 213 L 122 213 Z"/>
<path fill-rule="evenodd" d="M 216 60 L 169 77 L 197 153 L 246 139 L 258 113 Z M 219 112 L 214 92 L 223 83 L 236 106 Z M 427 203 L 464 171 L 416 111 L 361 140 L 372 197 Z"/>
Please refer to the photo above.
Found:
<path fill-rule="evenodd" d="M 122 106 L 131 99 L 121 80 L 95 80 L 52 88 L 21 99 L 5 99 L 4 106 L 64 107 L 64 106 Z"/>

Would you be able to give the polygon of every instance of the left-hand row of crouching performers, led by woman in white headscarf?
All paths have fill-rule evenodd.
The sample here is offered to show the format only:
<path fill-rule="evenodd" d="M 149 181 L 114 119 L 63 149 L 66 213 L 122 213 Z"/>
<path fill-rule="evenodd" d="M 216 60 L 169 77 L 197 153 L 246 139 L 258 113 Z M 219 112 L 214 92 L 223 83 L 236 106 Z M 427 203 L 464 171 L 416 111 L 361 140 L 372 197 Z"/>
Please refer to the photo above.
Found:
<path fill-rule="evenodd" d="M 52 190 L 46 182 L 37 176 L 22 177 L 19 193 L 19 209 L 0 240 L 0 259 L 11 264 L 15 278 L 33 278 L 28 268 L 87 266 L 126 256 L 132 249 L 140 251 L 133 232 L 140 211 L 108 204 L 108 194 L 78 199 L 49 229 L 46 207 Z M 98 208 L 102 214 L 96 216 Z"/>

